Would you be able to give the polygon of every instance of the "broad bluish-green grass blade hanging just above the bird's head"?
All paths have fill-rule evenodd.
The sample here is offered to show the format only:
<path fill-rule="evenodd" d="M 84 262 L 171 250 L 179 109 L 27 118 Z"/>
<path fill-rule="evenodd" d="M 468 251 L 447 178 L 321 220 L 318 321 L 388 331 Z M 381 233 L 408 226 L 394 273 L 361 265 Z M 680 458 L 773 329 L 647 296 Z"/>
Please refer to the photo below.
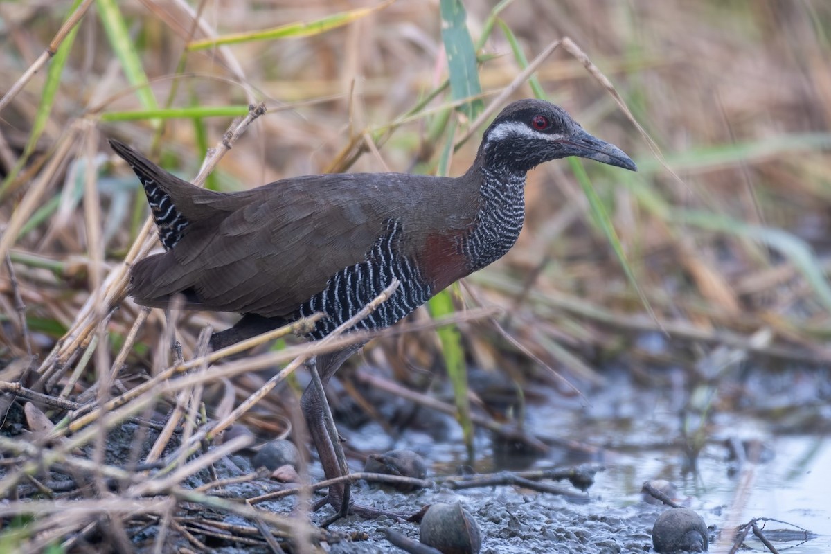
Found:
<path fill-rule="evenodd" d="M 450 96 L 464 100 L 482 94 L 476 51 L 465 22 L 465 7 L 461 0 L 441 0 L 441 40 L 445 43 L 447 66 L 450 69 Z M 460 111 L 474 120 L 484 110 L 484 101 L 478 98 L 460 106 Z"/>

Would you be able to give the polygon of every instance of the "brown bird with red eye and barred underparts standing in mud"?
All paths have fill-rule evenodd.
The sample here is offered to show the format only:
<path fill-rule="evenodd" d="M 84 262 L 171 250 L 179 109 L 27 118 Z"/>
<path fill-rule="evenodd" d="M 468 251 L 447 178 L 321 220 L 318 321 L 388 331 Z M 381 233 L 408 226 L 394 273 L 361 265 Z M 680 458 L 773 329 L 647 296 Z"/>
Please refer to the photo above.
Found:
<path fill-rule="evenodd" d="M 214 350 L 326 314 L 307 334 L 327 336 L 394 279 L 391 297 L 356 329 L 395 324 L 462 277 L 503 257 L 524 223 L 526 174 L 568 156 L 637 171 L 617 146 L 583 130 L 548 101 L 505 106 L 458 177 L 317 174 L 222 193 L 179 179 L 118 140 L 110 145 L 142 184 L 165 252 L 136 262 L 128 294 L 143 306 L 242 315 L 211 336 Z M 323 385 L 362 345 L 318 355 Z M 341 476 L 317 390 L 302 412 L 326 478 Z M 343 508 L 334 485 L 328 501 Z"/>

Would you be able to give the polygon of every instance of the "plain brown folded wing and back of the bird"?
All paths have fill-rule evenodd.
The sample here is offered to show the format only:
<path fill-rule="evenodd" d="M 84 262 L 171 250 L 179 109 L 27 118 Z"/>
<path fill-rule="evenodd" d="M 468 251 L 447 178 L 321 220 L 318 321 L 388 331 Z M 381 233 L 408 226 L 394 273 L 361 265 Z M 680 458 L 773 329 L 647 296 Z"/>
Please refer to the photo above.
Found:
<path fill-rule="evenodd" d="M 413 252 L 423 246 L 420 229 L 469 224 L 459 213 L 440 221 L 435 199 L 452 180 L 329 174 L 200 196 L 199 222 L 174 249 L 135 265 L 130 294 L 146 306 L 167 306 L 184 292 L 189 309 L 286 316 L 362 262 L 387 218 L 405 222 Z"/>

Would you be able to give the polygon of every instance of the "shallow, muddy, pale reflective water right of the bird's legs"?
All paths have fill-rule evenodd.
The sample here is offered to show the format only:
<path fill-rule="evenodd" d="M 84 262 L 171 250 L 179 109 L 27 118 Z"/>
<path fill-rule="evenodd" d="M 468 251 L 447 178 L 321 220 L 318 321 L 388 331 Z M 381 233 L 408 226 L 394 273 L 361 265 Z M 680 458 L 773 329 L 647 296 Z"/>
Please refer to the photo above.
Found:
<path fill-rule="evenodd" d="M 760 379 L 753 386 L 767 387 L 770 393 L 770 380 L 784 381 L 784 386 L 788 380 L 782 375 L 767 377 L 770 379 Z M 803 390 L 806 389 L 812 387 L 805 386 Z M 753 392 L 751 389 L 747 398 L 755 398 Z M 661 478 L 676 484 L 677 503 L 704 517 L 711 528 L 710 552 L 724 552 L 730 547 L 735 527 L 754 517 L 779 520 L 760 522 L 760 526 L 764 526 L 780 551 L 831 552 L 831 478 L 826 473 L 831 468 L 831 446 L 826 435 L 779 434 L 783 428 L 781 419 L 757 417 L 747 409 L 746 402 L 741 412 L 720 406 L 706 419 L 706 441 L 693 471 L 687 463 L 681 433 L 683 425 L 694 428 L 699 419 L 705 420 L 688 408 L 693 395 L 686 394 L 682 387 L 636 387 L 622 372 L 612 375 L 605 385 L 586 393 L 583 399 L 552 395 L 542 403 L 529 405 L 527 429 L 597 447 L 593 453 L 577 456 L 553 448 L 548 458 L 538 458 L 532 466 L 601 463 L 606 469 L 597 473 L 588 491 L 591 500 L 586 504 L 568 503 L 563 498 L 513 487 L 461 492 L 439 488 L 415 497 L 397 498 L 395 494 L 376 496 L 380 493 L 363 489 L 356 495 L 371 498 L 373 503 L 393 503 L 402 508 L 460 500 L 482 527 L 482 552 L 644 552 L 652 550 L 652 523 L 665 508 L 644 503 L 641 488 L 645 481 Z M 775 400 L 761 392 L 756 397 L 765 402 Z M 776 401 L 783 404 L 781 399 Z M 681 414 L 686 414 L 686 418 L 682 419 Z M 350 444 L 360 445 L 362 450 L 415 449 L 433 463 L 430 474 L 441 475 L 454 473 L 456 466 L 465 463 L 465 449 L 457 428 L 450 420 L 450 436 L 440 443 L 424 432 L 412 431 L 391 443 L 375 424 L 346 435 Z M 756 441 L 764 455 L 759 463 L 738 463 L 730 459 L 726 439 Z M 495 462 L 489 436 L 477 434 L 476 444 L 475 470 L 492 471 Z M 412 524 L 388 524 L 417 537 L 417 528 Z M 811 533 L 809 540 L 804 539 L 804 532 L 800 534 L 800 527 Z M 378 528 L 374 527 L 376 537 Z M 745 545 L 753 547 L 745 552 L 767 552 L 752 532 Z M 350 547 L 359 550 L 337 552 L 398 552 L 374 540 Z"/>

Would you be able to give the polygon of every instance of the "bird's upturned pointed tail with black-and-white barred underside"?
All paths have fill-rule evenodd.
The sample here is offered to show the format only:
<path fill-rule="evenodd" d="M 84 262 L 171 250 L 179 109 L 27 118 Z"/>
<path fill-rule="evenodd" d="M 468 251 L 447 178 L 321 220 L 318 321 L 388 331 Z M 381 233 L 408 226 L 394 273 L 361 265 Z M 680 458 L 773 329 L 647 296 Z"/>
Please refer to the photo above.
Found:
<path fill-rule="evenodd" d="M 175 247 L 182 238 L 184 228 L 189 225 L 180 208 L 176 207 L 173 189 L 179 187 L 191 188 L 192 185 L 179 179 L 173 174 L 161 169 L 158 165 L 145 158 L 139 152 L 115 139 L 110 139 L 110 146 L 116 154 L 125 159 L 138 175 L 141 186 L 145 189 L 147 203 L 153 213 L 156 227 L 159 229 L 159 239 L 165 250 Z"/>

